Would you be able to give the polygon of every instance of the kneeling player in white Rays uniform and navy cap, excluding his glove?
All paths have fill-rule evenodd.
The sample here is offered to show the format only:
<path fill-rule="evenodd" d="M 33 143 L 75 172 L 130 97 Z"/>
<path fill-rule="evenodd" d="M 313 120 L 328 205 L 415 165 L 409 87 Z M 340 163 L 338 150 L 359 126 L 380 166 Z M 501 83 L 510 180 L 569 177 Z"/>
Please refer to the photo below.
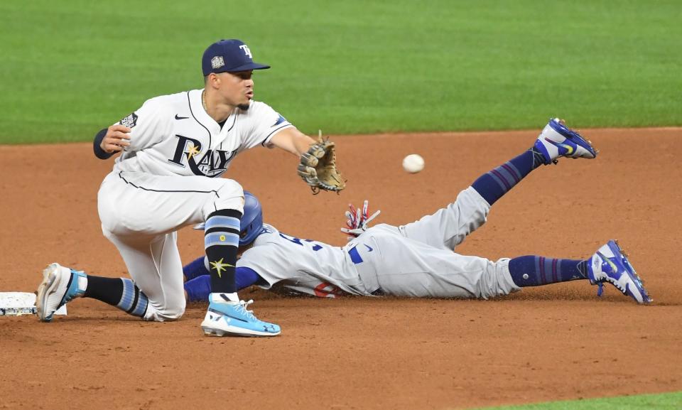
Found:
<path fill-rule="evenodd" d="M 210 45 L 202 57 L 205 87 L 148 99 L 103 129 L 99 158 L 122 151 L 99 188 L 102 232 L 123 257 L 130 279 L 87 275 L 58 264 L 43 272 L 38 315 L 50 321 L 72 298 L 97 298 L 145 320 L 175 320 L 185 311 L 177 231 L 205 223 L 213 289 L 202 322 L 207 335 L 278 335 L 240 301 L 234 283 L 244 206 L 242 186 L 220 177 L 238 153 L 277 146 L 297 156 L 315 143 L 263 102 L 256 102 L 251 50 L 239 40 Z"/>

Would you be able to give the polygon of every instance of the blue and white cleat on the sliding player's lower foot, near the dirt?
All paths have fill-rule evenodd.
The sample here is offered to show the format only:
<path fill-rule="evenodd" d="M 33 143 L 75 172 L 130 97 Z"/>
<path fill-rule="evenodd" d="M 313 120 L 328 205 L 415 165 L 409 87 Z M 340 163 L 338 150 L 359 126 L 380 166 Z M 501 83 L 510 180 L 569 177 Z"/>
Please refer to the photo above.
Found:
<path fill-rule="evenodd" d="M 599 286 L 597 296 L 602 296 L 604 282 L 608 282 L 637 303 L 652 301 L 618 241 L 610 240 L 588 259 L 588 279 Z"/>

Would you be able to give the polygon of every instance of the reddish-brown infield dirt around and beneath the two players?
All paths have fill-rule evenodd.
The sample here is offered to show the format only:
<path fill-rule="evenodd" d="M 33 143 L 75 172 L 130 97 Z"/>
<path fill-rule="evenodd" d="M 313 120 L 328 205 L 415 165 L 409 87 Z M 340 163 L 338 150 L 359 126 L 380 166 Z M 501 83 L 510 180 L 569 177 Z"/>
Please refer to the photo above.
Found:
<path fill-rule="evenodd" d="M 489 259 L 583 258 L 619 239 L 654 298 L 638 306 L 587 281 L 494 301 L 254 298 L 277 338 L 208 338 L 205 306 L 145 323 L 79 299 L 66 317 L 0 318 L 0 409 L 463 409 L 682 390 L 682 129 L 594 129 L 595 160 L 531 173 L 458 247 Z M 341 195 L 310 190 L 295 157 L 255 149 L 227 173 L 283 232 L 342 245 L 347 203 L 400 225 L 450 203 L 537 131 L 333 136 Z M 408 153 L 426 168 L 401 169 Z M 102 236 L 97 190 L 112 160 L 92 144 L 0 146 L 0 291 L 34 291 L 52 262 L 126 276 Z M 186 263 L 201 232 L 180 231 Z"/>

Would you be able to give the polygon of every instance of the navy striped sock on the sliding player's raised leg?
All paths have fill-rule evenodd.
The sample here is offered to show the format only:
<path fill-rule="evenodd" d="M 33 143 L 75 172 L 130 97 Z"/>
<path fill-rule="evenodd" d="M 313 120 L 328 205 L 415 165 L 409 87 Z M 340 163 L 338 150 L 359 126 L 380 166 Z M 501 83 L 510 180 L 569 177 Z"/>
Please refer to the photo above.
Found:
<path fill-rule="evenodd" d="M 494 170 L 483 174 L 471 186 L 481 194 L 487 203 L 492 205 L 543 163 L 544 157 L 542 154 L 536 151 L 536 149 L 531 148 Z"/>

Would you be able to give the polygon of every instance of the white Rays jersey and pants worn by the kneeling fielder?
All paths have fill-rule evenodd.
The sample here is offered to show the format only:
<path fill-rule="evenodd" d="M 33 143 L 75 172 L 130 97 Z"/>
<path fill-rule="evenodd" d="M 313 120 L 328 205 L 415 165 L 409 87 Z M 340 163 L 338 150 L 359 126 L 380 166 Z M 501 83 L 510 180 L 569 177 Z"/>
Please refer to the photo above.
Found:
<path fill-rule="evenodd" d="M 241 185 L 218 177 L 238 153 L 269 146 L 292 125 L 254 101 L 218 124 L 202 107 L 202 90 L 149 99 L 117 124 L 131 128 L 130 146 L 99 188 L 102 232 L 148 297 L 144 318 L 179 318 L 185 298 L 176 231 L 219 209 L 242 212 Z"/>

